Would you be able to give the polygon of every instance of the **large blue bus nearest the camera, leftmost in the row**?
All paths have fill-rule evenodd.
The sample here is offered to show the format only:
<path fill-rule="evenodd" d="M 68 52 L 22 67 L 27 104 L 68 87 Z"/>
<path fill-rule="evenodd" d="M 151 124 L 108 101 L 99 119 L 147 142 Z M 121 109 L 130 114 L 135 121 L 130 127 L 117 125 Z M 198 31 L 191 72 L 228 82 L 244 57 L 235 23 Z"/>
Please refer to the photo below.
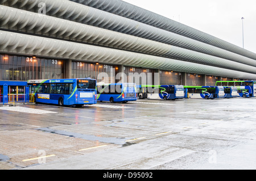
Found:
<path fill-rule="evenodd" d="M 96 104 L 96 80 L 82 79 L 46 79 L 29 80 L 30 93 L 35 103 L 58 104 L 59 106 L 83 106 Z"/>

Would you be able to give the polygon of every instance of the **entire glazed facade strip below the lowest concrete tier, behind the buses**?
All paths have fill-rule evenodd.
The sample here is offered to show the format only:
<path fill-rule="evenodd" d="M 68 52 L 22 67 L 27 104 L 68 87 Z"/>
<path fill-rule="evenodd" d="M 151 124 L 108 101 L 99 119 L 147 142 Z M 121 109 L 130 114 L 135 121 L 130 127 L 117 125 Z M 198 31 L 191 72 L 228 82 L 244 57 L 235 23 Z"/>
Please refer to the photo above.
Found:
<path fill-rule="evenodd" d="M 72 75 L 66 75 L 66 69 L 72 70 Z M 66 68 L 65 60 L 0 54 L 0 80 L 3 81 L 90 77 L 97 79 L 97 82 L 115 83 L 120 81 L 120 78 L 118 79 L 117 76 L 119 72 L 125 73 L 125 82 L 154 85 L 155 78 L 158 79 L 155 77 L 157 70 L 154 69 L 133 68 L 129 66 L 118 67 L 117 65 L 96 64 L 84 61 L 72 61 L 72 67 Z M 182 73 L 159 70 L 159 76 L 160 85 L 183 85 Z M 203 75 L 187 73 L 185 76 L 187 86 L 203 85 Z M 207 86 L 216 85 L 216 81 L 233 80 L 233 78 L 220 78 L 213 75 L 206 75 L 205 78 Z"/>

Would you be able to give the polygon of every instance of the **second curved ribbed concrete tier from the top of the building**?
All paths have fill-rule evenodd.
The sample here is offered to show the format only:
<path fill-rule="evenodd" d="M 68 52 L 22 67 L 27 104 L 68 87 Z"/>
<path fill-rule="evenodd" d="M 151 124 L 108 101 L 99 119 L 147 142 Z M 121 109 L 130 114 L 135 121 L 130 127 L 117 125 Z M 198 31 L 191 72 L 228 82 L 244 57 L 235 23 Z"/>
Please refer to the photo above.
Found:
<path fill-rule="evenodd" d="M 38 4 L 40 2 L 46 3 L 48 15 L 57 16 L 58 18 L 69 19 L 81 24 L 90 24 L 92 26 L 106 28 L 108 30 L 118 31 L 184 49 L 195 50 L 196 52 L 210 54 L 212 56 L 240 62 L 242 64 L 254 66 L 256 62 L 250 58 L 240 56 L 236 53 L 232 53 L 212 45 L 201 43 L 200 41 L 189 39 L 188 37 L 177 35 L 144 23 L 139 23 L 118 15 L 110 14 L 109 12 L 79 5 L 78 3 L 67 0 L 0 0 L 0 3 L 7 3 L 9 6 L 30 11 L 38 10 Z M 40 19 L 36 20 L 40 22 Z"/>

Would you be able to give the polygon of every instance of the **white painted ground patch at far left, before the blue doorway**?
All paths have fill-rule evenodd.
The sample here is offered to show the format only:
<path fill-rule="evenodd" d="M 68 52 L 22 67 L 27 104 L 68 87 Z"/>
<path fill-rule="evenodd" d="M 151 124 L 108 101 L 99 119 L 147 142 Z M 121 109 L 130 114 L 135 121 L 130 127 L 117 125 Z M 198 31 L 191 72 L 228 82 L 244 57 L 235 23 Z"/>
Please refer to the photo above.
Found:
<path fill-rule="evenodd" d="M 39 114 L 39 115 L 40 114 L 57 113 L 57 112 L 52 112 L 52 111 L 37 110 L 37 109 L 33 109 L 33 108 L 19 107 L 19 106 L 0 107 L 0 110 L 25 112 L 25 113 L 35 113 L 35 114 Z"/>

